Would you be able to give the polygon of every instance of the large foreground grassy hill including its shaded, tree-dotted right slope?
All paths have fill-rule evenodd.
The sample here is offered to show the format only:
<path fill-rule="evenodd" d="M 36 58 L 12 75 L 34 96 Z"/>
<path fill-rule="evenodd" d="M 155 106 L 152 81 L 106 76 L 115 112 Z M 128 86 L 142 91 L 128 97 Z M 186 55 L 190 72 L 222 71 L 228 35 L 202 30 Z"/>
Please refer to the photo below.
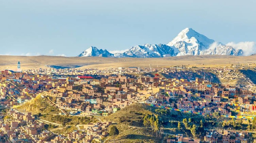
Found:
<path fill-rule="evenodd" d="M 188 126 L 193 124 L 199 126 L 200 120 L 205 122 L 204 117 L 201 115 L 160 109 L 143 103 L 133 103 L 116 113 L 103 117 L 102 120 L 112 121 L 113 124 L 116 124 L 115 126 L 117 126 L 120 134 L 116 137 L 115 142 L 161 142 L 159 137 L 151 133 L 151 128 L 146 128 L 143 125 L 145 115 L 157 116 L 160 126 L 164 127 L 165 133 L 184 134 L 184 132 L 187 132 L 184 136 L 192 135 L 189 129 L 177 129 L 178 121 L 182 123 L 184 118 L 191 118 L 192 121 Z M 212 124 L 212 122 L 209 124 Z M 181 126 L 185 128 L 183 124 Z M 207 123 L 205 123 L 205 126 L 207 127 Z M 114 142 L 113 137 L 110 136 L 106 142 Z"/>

